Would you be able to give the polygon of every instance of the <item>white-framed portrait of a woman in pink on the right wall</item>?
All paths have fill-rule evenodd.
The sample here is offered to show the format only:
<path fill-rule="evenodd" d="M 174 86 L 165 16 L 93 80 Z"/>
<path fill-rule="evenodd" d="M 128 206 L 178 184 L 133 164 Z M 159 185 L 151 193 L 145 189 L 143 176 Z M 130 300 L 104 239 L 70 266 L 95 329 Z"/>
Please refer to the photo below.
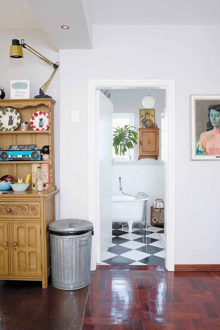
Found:
<path fill-rule="evenodd" d="M 220 95 L 190 95 L 191 160 L 220 160 Z"/>

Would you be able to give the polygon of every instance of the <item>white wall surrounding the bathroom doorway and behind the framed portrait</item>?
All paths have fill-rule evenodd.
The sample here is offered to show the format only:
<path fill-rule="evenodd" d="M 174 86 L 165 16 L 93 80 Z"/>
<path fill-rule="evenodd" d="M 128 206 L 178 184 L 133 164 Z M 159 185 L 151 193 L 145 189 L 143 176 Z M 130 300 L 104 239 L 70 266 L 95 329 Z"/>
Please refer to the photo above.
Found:
<path fill-rule="evenodd" d="M 175 79 L 175 264 L 219 264 L 219 163 L 190 161 L 189 108 L 190 94 L 219 93 L 219 34 L 211 25 L 97 25 L 92 50 L 60 50 L 60 147 L 72 142 L 60 159 L 61 217 L 88 218 L 88 79 Z"/>

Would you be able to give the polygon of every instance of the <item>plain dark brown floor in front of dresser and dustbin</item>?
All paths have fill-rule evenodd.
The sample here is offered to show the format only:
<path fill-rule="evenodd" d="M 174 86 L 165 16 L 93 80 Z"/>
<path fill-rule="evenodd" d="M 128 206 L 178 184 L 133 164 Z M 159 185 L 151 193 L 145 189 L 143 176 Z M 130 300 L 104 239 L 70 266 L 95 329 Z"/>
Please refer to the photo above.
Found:
<path fill-rule="evenodd" d="M 1 330 L 80 330 L 89 285 L 64 291 L 37 281 L 0 281 Z"/>

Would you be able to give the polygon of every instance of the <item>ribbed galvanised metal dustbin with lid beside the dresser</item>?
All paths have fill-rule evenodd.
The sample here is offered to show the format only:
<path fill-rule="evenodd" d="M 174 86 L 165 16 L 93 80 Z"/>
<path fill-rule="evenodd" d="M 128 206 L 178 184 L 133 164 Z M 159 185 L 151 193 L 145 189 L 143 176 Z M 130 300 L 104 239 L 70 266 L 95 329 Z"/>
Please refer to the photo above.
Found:
<path fill-rule="evenodd" d="M 52 284 L 76 290 L 90 283 L 93 224 L 79 219 L 62 219 L 49 224 Z"/>

